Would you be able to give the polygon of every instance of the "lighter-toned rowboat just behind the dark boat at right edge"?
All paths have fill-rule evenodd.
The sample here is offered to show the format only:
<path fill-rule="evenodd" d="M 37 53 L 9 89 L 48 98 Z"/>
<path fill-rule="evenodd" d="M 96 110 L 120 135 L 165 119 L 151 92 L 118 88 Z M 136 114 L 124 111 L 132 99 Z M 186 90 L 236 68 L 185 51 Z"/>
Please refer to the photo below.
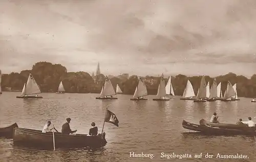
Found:
<path fill-rule="evenodd" d="M 225 123 L 211 123 L 211 122 L 207 122 L 204 119 L 201 119 L 199 121 L 200 125 L 204 125 L 204 126 L 210 126 L 210 127 L 220 127 L 220 128 L 230 128 L 230 129 L 242 129 L 242 128 L 247 128 L 246 124 L 225 124 Z"/>

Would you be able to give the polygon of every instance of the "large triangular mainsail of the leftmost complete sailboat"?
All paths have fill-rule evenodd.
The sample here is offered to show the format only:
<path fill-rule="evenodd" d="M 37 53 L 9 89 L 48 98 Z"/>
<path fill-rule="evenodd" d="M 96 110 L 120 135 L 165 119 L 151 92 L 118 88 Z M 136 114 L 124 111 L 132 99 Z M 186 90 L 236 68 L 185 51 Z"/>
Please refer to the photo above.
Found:
<path fill-rule="evenodd" d="M 39 94 L 40 92 L 40 88 L 38 87 L 32 74 L 30 73 L 26 84 L 26 95 Z"/>

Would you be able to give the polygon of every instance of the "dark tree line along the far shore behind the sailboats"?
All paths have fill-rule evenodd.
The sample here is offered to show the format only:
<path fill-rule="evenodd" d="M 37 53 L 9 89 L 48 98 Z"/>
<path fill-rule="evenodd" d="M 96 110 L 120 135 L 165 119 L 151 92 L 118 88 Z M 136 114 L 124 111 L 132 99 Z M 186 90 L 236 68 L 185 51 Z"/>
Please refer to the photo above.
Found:
<path fill-rule="evenodd" d="M 100 93 L 101 87 L 104 83 L 104 75 L 100 74 L 93 78 L 86 72 L 67 72 L 67 68 L 61 64 L 52 64 L 50 62 L 37 62 L 33 65 L 32 70 L 24 70 L 20 73 L 3 74 L 2 75 L 2 89 L 7 90 L 22 90 L 24 83 L 27 82 L 29 73 L 32 73 L 41 92 L 55 92 L 58 89 L 60 81 L 62 81 L 66 92 L 71 93 Z M 172 85 L 175 95 L 183 95 L 187 80 L 189 79 L 193 85 L 195 94 L 200 86 L 202 76 L 187 77 L 185 75 L 172 76 Z M 143 77 L 147 86 L 148 95 L 156 95 L 159 77 L 145 76 Z M 206 82 L 210 82 L 210 86 L 214 78 L 205 76 Z M 217 83 L 222 83 L 221 89 L 224 91 L 227 87 L 227 82 L 231 84 L 237 83 L 237 91 L 239 97 L 256 97 L 256 75 L 251 76 L 250 79 L 233 73 L 228 73 L 223 76 L 216 77 Z M 155 82 L 152 82 L 155 81 Z M 168 79 L 165 79 L 167 84 Z M 137 76 L 133 75 L 129 78 L 113 77 L 111 78 L 114 89 L 119 84 L 123 94 L 133 95 L 136 86 L 138 85 Z"/>

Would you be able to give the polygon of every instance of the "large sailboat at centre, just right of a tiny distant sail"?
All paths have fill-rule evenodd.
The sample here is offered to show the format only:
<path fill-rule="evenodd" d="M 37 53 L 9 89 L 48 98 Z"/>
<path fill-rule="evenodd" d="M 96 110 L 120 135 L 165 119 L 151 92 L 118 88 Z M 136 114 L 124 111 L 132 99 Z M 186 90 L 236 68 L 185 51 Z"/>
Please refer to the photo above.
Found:
<path fill-rule="evenodd" d="M 144 83 L 144 81 L 142 80 L 141 77 L 139 77 L 139 83 L 138 86 L 135 89 L 133 98 L 130 100 L 147 100 L 145 98 L 143 98 L 144 96 L 147 96 L 147 90 L 146 90 L 146 84 Z"/>

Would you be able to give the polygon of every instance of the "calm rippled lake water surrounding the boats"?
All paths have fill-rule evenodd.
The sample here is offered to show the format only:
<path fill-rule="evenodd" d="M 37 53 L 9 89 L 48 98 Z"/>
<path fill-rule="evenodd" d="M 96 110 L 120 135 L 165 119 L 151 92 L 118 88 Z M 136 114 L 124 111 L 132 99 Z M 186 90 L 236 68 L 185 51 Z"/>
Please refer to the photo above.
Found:
<path fill-rule="evenodd" d="M 239 118 L 256 117 L 256 103 L 240 98 L 236 102 L 179 100 L 130 101 L 132 96 L 118 95 L 118 100 L 95 100 L 98 94 L 41 94 L 44 99 L 16 99 L 20 92 L 4 92 L 0 96 L 0 127 L 17 122 L 19 127 L 42 129 L 48 120 L 57 130 L 70 117 L 71 129 L 88 133 L 91 122 L 101 132 L 106 107 L 114 112 L 119 127 L 105 123 L 108 144 L 95 152 L 84 149 L 38 150 L 14 147 L 12 140 L 0 139 L 0 161 L 255 161 L 254 137 L 196 135 L 182 127 L 182 120 L 199 123 L 217 112 L 221 122 L 236 123 Z M 254 119 L 256 120 L 256 119 Z M 130 152 L 152 153 L 153 159 L 130 157 Z M 214 154 L 214 158 L 161 158 L 160 154 Z M 248 159 L 218 159 L 223 154 L 244 154 Z"/>

